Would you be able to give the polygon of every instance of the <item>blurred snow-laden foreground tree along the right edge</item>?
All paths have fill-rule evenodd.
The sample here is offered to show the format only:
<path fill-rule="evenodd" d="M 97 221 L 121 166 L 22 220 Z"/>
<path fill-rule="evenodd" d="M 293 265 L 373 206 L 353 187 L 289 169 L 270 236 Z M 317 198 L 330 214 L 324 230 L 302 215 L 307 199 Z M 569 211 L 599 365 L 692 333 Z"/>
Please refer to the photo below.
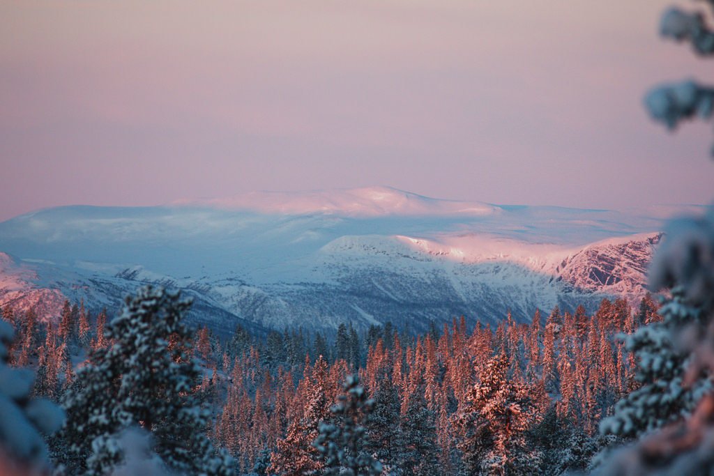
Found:
<path fill-rule="evenodd" d="M 714 8 L 714 3 L 708 1 Z M 660 33 L 688 40 L 700 55 L 714 54 L 705 16 L 670 9 Z M 674 128 L 693 116 L 708 119 L 714 88 L 684 81 L 655 88 L 645 104 L 655 119 Z M 628 339 L 640 358 L 643 382 L 601 424 L 603 432 L 648 432 L 605 467 L 606 474 L 705 475 L 714 467 L 714 208 L 705 216 L 673 221 L 650 268 L 650 288 L 668 289 L 662 322 L 650 322 Z"/>

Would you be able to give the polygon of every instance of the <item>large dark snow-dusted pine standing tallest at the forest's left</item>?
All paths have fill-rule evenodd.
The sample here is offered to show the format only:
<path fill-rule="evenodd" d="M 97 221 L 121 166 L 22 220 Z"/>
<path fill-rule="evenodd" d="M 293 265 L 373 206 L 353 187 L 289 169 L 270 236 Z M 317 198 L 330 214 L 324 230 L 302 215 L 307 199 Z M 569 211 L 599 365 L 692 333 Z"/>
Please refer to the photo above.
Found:
<path fill-rule="evenodd" d="M 151 432 L 169 468 L 228 475 L 230 461 L 206 437 L 207 414 L 192 389 L 198 367 L 188 356 L 191 333 L 182 322 L 191 305 L 179 293 L 146 286 L 126 298 L 107 326 L 112 341 L 98 348 L 64 397 L 68 420 L 61 460 L 75 474 L 103 475 L 121 461 L 116 434 L 132 425 Z"/>

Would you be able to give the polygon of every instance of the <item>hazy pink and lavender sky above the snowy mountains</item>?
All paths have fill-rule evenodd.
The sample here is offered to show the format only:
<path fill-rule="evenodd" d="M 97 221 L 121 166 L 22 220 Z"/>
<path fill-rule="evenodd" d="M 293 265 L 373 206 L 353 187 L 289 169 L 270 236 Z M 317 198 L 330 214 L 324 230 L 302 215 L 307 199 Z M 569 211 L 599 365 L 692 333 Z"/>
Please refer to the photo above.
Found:
<path fill-rule="evenodd" d="M 660 0 L 0 2 L 0 220 L 386 185 L 498 204 L 709 203 L 714 81 Z M 700 6 L 683 2 L 686 9 Z"/>

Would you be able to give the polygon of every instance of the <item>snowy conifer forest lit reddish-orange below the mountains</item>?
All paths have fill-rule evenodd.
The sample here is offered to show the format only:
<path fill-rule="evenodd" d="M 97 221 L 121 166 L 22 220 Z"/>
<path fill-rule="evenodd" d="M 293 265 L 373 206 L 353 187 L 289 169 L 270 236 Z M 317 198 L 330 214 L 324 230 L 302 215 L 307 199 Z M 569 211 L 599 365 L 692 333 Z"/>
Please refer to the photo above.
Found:
<path fill-rule="evenodd" d="M 151 434 L 167 469 L 191 474 L 338 474 L 345 452 L 354 474 L 593 470 L 635 435 L 599 431 L 642 385 L 623 337 L 662 320 L 647 295 L 635 309 L 605 299 L 593 315 L 556 307 L 495 329 L 462 316 L 426 335 L 386 323 L 342 324 L 333 338 L 238 326 L 219 338 L 182 322 L 189 305 L 149 287 L 114 320 L 69 301 L 47 323 L 2 309 L 14 328 L 9 365 L 34 368 L 31 397 L 66 412 L 46 438 L 56 474 L 108 474 L 124 451 L 120 429 L 133 427 Z"/>

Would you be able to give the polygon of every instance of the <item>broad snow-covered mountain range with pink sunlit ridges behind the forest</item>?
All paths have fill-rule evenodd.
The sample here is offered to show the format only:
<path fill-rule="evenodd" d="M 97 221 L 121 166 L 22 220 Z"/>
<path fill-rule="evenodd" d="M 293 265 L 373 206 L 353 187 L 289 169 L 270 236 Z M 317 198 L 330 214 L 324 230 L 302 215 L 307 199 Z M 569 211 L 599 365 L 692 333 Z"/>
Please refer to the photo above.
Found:
<path fill-rule="evenodd" d="M 445 201 L 387 187 L 251 193 L 158 207 L 70 206 L 0 223 L 0 305 L 117 308 L 141 283 L 192 295 L 229 331 L 594 308 L 643 295 L 658 209 Z"/>

